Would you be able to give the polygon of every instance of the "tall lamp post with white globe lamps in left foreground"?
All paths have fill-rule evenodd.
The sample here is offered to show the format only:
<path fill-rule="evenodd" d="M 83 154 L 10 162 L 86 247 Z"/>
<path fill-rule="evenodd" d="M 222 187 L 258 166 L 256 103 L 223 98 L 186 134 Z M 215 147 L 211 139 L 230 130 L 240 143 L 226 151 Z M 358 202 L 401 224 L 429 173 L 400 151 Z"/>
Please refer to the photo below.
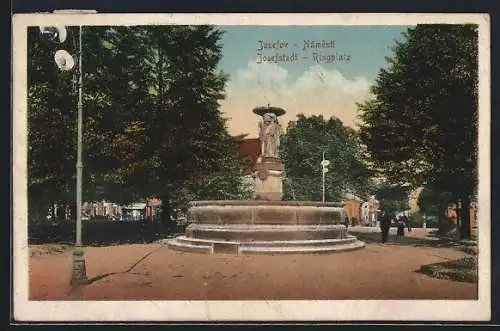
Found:
<path fill-rule="evenodd" d="M 55 43 L 63 43 L 66 40 L 67 31 L 64 27 L 40 27 L 42 35 Z M 73 265 L 71 272 L 71 284 L 87 284 L 87 272 L 85 267 L 85 254 L 82 249 L 82 131 L 83 131 L 83 101 L 82 101 L 82 26 L 79 26 L 78 34 L 78 59 L 65 50 L 58 50 L 54 60 L 62 71 L 73 69 L 75 62 L 78 64 L 78 116 L 77 116 L 77 161 L 76 161 L 76 242 L 73 250 Z"/>

